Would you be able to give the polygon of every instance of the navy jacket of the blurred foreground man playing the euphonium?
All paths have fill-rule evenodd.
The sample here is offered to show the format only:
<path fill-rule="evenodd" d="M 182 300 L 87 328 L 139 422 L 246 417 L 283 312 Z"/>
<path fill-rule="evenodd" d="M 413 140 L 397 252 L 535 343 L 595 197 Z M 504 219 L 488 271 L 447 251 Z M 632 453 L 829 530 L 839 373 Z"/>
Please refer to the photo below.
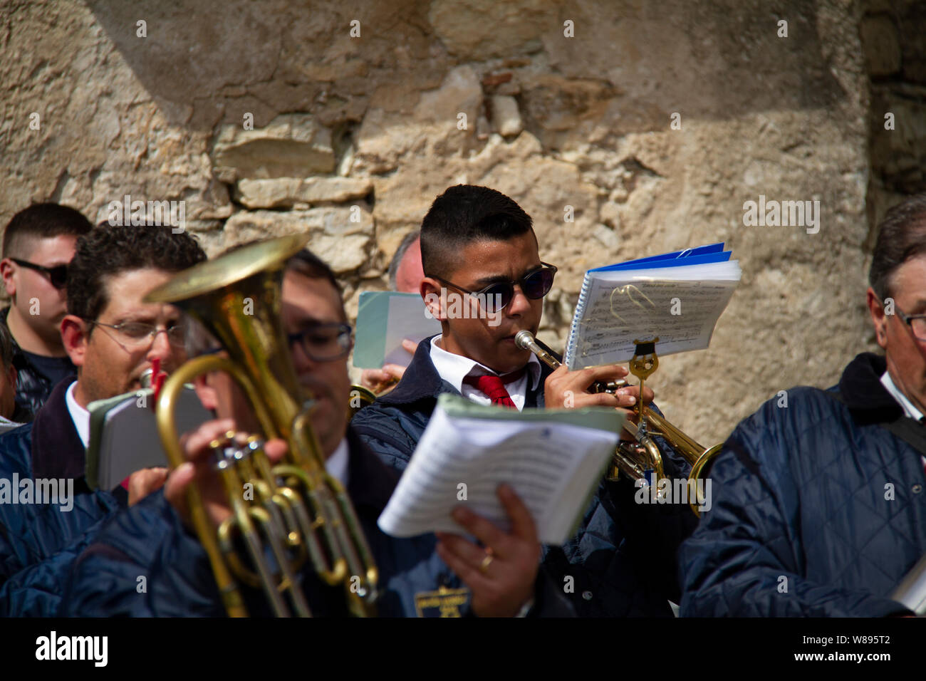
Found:
<path fill-rule="evenodd" d="M 437 554 L 433 535 L 395 538 L 376 524 L 397 475 L 348 430 L 347 491 L 380 571 L 380 616 L 416 616 L 415 595 L 463 587 Z M 144 580 L 140 580 L 144 577 Z M 144 583 L 144 587 L 140 587 Z M 345 615 L 343 587 L 321 586 L 310 568 L 303 588 L 315 616 Z M 252 615 L 269 614 L 262 593 L 243 587 Z M 536 612 L 562 614 L 556 594 L 535 596 Z M 557 611 L 557 605 L 559 610 Z M 545 608 L 545 609 L 544 609 Z M 468 607 L 461 608 L 467 613 Z M 62 614 L 78 616 L 221 616 L 224 609 L 206 552 L 161 492 L 118 513 L 74 565 Z"/>

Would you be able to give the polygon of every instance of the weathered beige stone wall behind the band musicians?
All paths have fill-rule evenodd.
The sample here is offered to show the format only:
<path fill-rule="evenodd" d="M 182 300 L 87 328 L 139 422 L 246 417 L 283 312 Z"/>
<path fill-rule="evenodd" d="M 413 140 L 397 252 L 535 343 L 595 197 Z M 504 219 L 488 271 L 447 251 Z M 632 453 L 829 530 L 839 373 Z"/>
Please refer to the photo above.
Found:
<path fill-rule="evenodd" d="M 849 0 L 12 0 L 0 222 L 37 200 L 105 220 L 131 195 L 185 201 L 210 255 L 310 232 L 353 315 L 435 195 L 486 184 L 560 267 L 542 331 L 560 347 L 584 270 L 722 240 L 744 275 L 711 347 L 650 384 L 709 443 L 872 347 L 872 220 L 922 177 L 872 120 L 900 97 L 891 144 L 926 137 L 904 89 L 922 85 L 916 11 L 919 32 L 892 34 L 891 10 Z M 758 195 L 819 200 L 820 231 L 745 227 Z"/>

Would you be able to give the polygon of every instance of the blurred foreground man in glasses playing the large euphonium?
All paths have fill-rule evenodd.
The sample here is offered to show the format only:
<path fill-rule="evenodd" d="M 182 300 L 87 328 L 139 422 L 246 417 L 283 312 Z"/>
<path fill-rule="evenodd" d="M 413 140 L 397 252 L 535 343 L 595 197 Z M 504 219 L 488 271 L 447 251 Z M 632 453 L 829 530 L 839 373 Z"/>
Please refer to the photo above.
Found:
<path fill-rule="evenodd" d="M 257 303 L 259 304 L 259 303 Z M 473 513 L 457 516 L 461 528 L 491 547 L 493 560 L 480 570 L 455 568 L 459 578 L 435 554 L 433 535 L 398 539 L 386 536 L 376 521 L 392 494 L 397 476 L 364 447 L 348 426 L 350 382 L 346 358 L 352 347 L 351 330 L 332 271 L 315 256 L 303 251 L 287 263 L 282 284 L 282 323 L 288 334 L 294 369 L 300 385 L 317 401 L 311 425 L 329 473 L 347 488 L 357 510 L 362 531 L 369 541 L 380 571 L 381 598 L 378 614 L 415 616 L 425 600 L 466 595 L 469 607 L 440 610 L 480 616 L 521 613 L 571 614 L 558 596 L 556 585 L 538 578 L 541 547 L 526 507 L 509 489 L 499 498 L 512 521 L 510 533 Z M 187 489 L 195 484 L 214 527 L 231 514 L 228 493 L 220 485 L 211 443 L 229 431 L 251 430 L 251 409 L 235 398 L 231 383 L 210 375 L 198 392 L 207 408 L 216 410 L 218 421 L 207 422 L 185 439 L 187 462 L 170 473 L 163 492 L 156 492 L 124 511 L 97 537 L 77 561 L 64 613 L 71 615 L 177 616 L 223 613 L 219 589 L 206 552 L 191 532 Z M 282 440 L 266 443 L 271 460 L 284 451 Z M 442 543 L 464 541 L 444 536 Z M 484 555 L 484 554 L 483 554 Z M 344 586 L 324 586 L 311 571 L 311 561 L 299 580 L 315 616 L 346 613 Z M 138 585 L 144 577 L 146 586 Z M 242 586 L 248 611 L 266 614 L 257 588 Z M 340 593 L 339 593 L 340 592 Z M 430 606 L 430 610 L 435 610 Z M 421 612 L 421 614 L 427 614 Z M 446 614 L 446 612 L 444 612 Z"/>

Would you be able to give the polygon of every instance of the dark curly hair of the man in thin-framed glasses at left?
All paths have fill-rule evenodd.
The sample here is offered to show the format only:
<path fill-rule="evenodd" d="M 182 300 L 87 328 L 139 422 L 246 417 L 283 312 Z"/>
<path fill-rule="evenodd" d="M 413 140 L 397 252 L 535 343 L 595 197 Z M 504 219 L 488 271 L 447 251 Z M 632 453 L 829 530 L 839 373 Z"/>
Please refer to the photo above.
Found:
<path fill-rule="evenodd" d="M 181 271 L 205 259 L 194 236 L 169 226 L 97 227 L 77 240 L 68 267 L 68 312 L 95 320 L 109 304 L 106 277 L 148 268 Z"/>

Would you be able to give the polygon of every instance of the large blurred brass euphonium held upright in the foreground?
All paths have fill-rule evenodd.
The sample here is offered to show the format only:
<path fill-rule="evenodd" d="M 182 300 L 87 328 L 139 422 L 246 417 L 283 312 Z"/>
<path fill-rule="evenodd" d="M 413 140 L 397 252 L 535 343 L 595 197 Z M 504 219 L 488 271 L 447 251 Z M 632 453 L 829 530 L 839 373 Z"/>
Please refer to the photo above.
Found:
<path fill-rule="evenodd" d="M 189 488 L 194 528 L 233 617 L 247 615 L 240 584 L 262 587 L 277 616 L 310 616 L 297 578 L 306 561 L 326 584 L 344 586 L 352 614 L 374 612 L 377 568 L 344 486 L 325 469 L 309 421 L 313 398 L 296 380 L 282 327 L 283 266 L 307 240 L 294 235 L 245 246 L 181 272 L 145 298 L 186 311 L 229 355 L 192 359 L 163 385 L 157 427 L 171 468 L 184 461 L 177 398 L 184 383 L 206 372 L 228 372 L 250 400 L 263 437 L 288 445 L 286 458 L 273 465 L 257 436 L 241 443 L 228 434 L 229 441 L 212 443 L 232 509 L 218 531 L 199 489 Z"/>

